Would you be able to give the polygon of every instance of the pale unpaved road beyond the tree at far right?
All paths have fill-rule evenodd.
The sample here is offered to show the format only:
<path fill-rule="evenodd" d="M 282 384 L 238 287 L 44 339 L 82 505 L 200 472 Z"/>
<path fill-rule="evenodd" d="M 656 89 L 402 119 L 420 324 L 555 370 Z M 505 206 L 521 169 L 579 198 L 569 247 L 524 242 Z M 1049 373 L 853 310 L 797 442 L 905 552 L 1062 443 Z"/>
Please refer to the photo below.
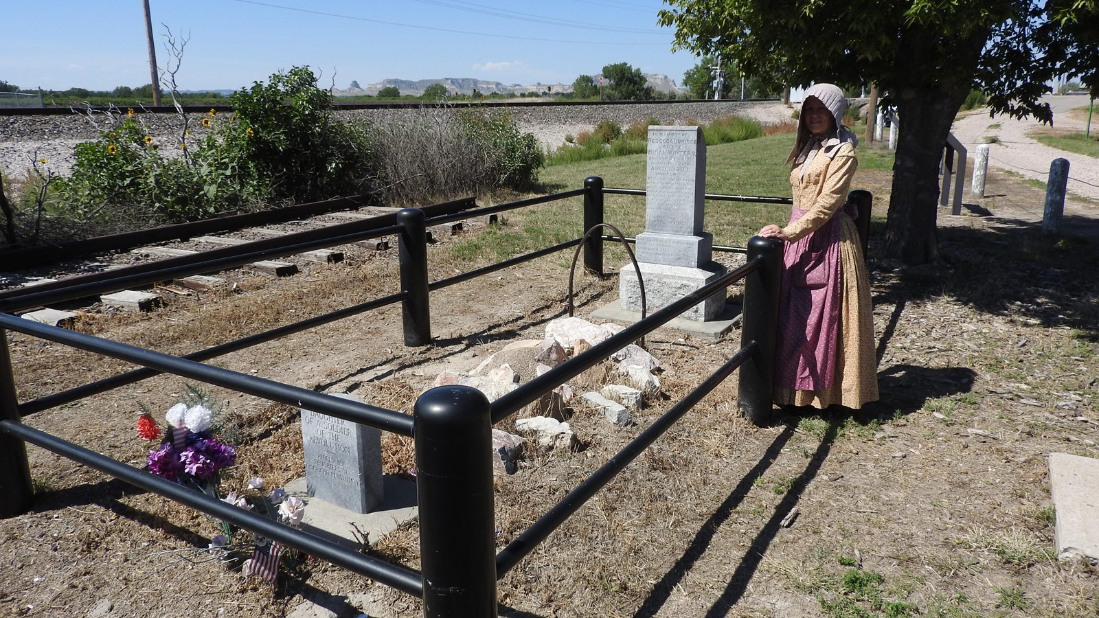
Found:
<path fill-rule="evenodd" d="M 1087 114 L 1084 114 L 1084 120 L 1078 120 L 1069 118 L 1068 112 L 1086 108 L 1087 97 L 1051 95 L 1042 100 L 1048 102 L 1053 109 L 1054 129 L 1085 130 Z M 977 146 L 986 143 L 987 139 L 998 139 L 999 141 L 989 148 L 989 166 L 1014 172 L 1025 178 L 1045 181 L 1048 179 L 1050 164 L 1053 159 L 1066 158 L 1069 162 L 1068 191 L 1099 200 L 1099 158 L 1051 148 L 1029 136 L 1029 132 L 1043 126 L 1034 119 L 989 118 L 987 111 L 979 111 L 959 115 L 954 121 L 952 132 L 965 145 L 970 158 L 977 153 Z M 903 123 L 901 130 L 903 131 Z M 1091 133 L 1099 134 L 1099 113 L 1091 119 Z M 965 183 L 968 189 L 969 178 L 966 178 Z"/>

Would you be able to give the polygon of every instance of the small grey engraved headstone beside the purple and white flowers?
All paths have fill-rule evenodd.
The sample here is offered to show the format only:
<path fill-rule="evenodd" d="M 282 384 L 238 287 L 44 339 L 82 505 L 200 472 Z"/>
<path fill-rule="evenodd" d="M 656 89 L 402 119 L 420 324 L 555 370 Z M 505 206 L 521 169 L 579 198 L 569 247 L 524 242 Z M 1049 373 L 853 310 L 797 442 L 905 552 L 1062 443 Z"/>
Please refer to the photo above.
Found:
<path fill-rule="evenodd" d="M 334 396 L 358 400 L 351 395 Z M 358 514 L 381 504 L 379 429 L 302 409 L 301 441 L 310 496 Z"/>

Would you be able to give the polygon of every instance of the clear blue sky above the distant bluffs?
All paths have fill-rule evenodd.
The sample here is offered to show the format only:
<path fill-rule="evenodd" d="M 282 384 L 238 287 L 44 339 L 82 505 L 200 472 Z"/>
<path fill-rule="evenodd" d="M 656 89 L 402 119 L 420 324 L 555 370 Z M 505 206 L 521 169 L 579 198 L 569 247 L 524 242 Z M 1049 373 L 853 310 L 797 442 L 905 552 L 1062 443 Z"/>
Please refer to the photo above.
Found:
<path fill-rule="evenodd" d="M 656 25 L 660 0 L 149 0 L 157 64 L 165 26 L 189 35 L 182 90 L 236 89 L 292 66 L 346 88 L 386 78 L 571 84 L 629 63 L 681 84 L 697 59 Z M 141 0 L 0 1 L 0 79 L 110 90 L 149 81 Z"/>

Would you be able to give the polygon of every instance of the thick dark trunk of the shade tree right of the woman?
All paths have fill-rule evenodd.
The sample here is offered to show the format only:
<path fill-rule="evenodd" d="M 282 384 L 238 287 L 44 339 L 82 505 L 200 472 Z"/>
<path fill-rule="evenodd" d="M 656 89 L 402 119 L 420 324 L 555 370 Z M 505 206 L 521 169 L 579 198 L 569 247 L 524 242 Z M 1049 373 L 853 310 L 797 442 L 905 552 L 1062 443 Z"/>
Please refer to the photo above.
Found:
<path fill-rule="evenodd" d="M 887 258 L 914 265 L 939 257 L 939 166 L 951 124 L 967 93 L 966 88 L 903 88 L 895 98 L 900 134 L 886 223 Z"/>

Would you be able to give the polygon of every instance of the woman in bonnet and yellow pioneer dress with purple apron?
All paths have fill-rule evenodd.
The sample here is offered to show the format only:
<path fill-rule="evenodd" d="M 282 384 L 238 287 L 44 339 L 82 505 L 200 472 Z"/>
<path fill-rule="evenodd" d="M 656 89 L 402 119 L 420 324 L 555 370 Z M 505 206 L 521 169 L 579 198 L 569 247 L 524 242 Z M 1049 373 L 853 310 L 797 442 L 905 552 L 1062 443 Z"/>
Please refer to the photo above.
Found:
<path fill-rule="evenodd" d="M 764 238 L 784 245 L 775 402 L 861 408 L 878 398 L 874 316 L 858 230 L 844 209 L 858 140 L 843 126 L 847 99 L 831 84 L 806 90 L 790 152 L 793 210 Z"/>

